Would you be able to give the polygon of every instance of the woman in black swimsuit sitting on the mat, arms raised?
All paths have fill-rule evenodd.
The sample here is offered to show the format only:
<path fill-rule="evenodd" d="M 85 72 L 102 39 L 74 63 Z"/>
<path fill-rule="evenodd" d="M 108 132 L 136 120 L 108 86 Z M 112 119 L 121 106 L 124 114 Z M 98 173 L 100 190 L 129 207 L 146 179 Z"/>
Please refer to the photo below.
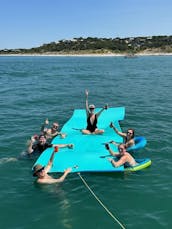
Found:
<path fill-rule="evenodd" d="M 97 121 L 99 116 L 104 110 L 107 110 L 108 106 L 105 105 L 99 112 L 94 113 L 94 104 L 88 105 L 88 90 L 86 94 L 86 114 L 87 114 L 87 128 L 82 130 L 83 134 L 103 134 L 104 130 L 97 128 Z"/>

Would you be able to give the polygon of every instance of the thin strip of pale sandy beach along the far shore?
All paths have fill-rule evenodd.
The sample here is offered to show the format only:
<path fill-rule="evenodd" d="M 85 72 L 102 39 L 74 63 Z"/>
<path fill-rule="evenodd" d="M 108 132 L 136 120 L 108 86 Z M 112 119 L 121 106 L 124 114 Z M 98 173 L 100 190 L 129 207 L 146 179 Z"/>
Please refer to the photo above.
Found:
<path fill-rule="evenodd" d="M 35 53 L 35 54 L 0 54 L 0 56 L 57 56 L 57 57 L 127 57 L 127 58 L 134 58 L 134 57 L 139 57 L 139 56 L 172 56 L 172 53 L 137 53 L 134 55 L 130 54 L 115 54 L 115 53 L 105 53 L 105 54 L 96 54 L 96 53 L 85 53 L 85 54 L 54 54 L 54 53 Z"/>

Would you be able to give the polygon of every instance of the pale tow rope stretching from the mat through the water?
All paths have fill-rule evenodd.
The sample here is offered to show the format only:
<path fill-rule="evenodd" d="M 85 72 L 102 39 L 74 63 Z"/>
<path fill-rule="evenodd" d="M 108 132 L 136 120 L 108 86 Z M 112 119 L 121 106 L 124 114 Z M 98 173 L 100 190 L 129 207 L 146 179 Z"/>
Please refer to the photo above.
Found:
<path fill-rule="evenodd" d="M 99 202 L 99 204 L 106 210 L 106 212 L 121 226 L 122 229 L 125 229 L 123 224 L 109 211 L 109 209 L 102 203 L 102 201 L 96 196 L 96 194 L 93 192 L 93 190 L 89 187 L 87 182 L 84 180 L 84 178 L 81 176 L 80 173 L 77 173 L 84 185 L 88 188 L 88 190 L 91 192 L 91 194 L 95 197 L 95 199 Z"/>

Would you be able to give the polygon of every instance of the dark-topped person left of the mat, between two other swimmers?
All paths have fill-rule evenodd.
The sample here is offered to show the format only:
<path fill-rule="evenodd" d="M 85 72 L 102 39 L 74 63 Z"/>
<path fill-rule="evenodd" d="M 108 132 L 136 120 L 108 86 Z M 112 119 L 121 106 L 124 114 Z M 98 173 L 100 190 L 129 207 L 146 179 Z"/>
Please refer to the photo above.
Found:
<path fill-rule="evenodd" d="M 27 149 L 27 153 L 28 155 L 33 155 L 33 154 L 41 154 L 44 150 L 46 150 L 49 147 L 55 147 L 58 146 L 59 148 L 64 148 L 64 147 L 68 147 L 70 149 L 73 148 L 73 144 L 50 144 L 47 142 L 46 138 L 44 135 L 40 135 L 38 137 L 38 140 L 33 140 L 31 139 L 29 145 L 28 145 L 28 149 Z"/>

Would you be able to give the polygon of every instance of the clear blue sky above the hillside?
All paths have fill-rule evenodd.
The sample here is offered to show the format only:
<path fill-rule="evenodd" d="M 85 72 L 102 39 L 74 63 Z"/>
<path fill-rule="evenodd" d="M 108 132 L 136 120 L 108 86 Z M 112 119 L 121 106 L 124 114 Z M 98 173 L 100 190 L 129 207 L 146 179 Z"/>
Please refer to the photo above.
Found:
<path fill-rule="evenodd" d="M 172 35 L 172 0 L 0 0 L 0 49 L 76 37 Z"/>

